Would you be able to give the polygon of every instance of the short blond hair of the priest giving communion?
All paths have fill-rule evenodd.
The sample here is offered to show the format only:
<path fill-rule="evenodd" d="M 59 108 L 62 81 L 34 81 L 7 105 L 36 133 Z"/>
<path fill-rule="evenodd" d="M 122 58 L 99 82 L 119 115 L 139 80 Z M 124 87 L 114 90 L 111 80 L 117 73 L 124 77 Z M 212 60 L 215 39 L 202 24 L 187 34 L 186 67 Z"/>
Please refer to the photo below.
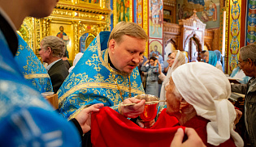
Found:
<path fill-rule="evenodd" d="M 145 31 L 137 25 L 137 23 L 119 22 L 111 31 L 111 36 L 107 42 L 107 48 L 109 47 L 110 40 L 114 39 L 117 44 L 122 42 L 122 36 L 132 36 L 141 40 L 148 40 L 148 36 Z"/>

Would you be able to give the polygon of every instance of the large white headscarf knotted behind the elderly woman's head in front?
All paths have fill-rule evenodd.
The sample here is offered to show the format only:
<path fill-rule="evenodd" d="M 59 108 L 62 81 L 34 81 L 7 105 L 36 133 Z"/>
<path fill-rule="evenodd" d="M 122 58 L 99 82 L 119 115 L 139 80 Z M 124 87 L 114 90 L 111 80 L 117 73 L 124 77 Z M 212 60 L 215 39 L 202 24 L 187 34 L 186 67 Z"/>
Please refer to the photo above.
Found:
<path fill-rule="evenodd" d="M 209 144 L 219 145 L 232 136 L 236 146 L 244 145 L 241 136 L 233 130 L 236 111 L 228 101 L 231 86 L 222 71 L 213 65 L 193 62 L 178 67 L 171 78 L 197 115 L 210 120 L 206 126 Z"/>

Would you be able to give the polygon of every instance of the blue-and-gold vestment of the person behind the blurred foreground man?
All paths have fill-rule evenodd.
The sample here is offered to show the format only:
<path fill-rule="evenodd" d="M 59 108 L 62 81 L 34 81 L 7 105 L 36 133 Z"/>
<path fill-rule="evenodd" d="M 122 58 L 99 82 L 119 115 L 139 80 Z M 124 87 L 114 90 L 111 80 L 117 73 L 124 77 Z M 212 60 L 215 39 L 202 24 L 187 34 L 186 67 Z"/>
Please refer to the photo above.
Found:
<path fill-rule="evenodd" d="M 53 92 L 53 86 L 46 68 L 19 34 L 18 41 L 15 61 L 19 65 L 20 71 L 24 74 L 24 78 L 39 90 L 40 93 Z"/>

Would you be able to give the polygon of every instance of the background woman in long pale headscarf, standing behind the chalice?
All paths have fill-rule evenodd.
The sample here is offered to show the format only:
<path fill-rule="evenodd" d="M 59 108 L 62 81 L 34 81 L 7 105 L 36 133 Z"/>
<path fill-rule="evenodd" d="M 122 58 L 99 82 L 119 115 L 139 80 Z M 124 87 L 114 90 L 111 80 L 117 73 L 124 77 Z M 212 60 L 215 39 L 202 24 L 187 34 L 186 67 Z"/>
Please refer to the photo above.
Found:
<path fill-rule="evenodd" d="M 179 50 L 175 50 L 171 52 L 171 57 L 167 60 L 169 64 L 169 69 L 167 71 L 167 76 L 165 76 L 162 72 L 161 69 L 159 69 L 159 76 L 158 78 L 163 81 L 162 88 L 161 88 L 161 93 L 160 93 L 160 99 L 165 100 L 165 86 L 167 82 L 169 81 L 171 77 L 171 73 L 180 65 L 185 64 L 185 56 L 184 53 L 180 52 Z M 163 103 L 160 103 L 162 105 Z"/>

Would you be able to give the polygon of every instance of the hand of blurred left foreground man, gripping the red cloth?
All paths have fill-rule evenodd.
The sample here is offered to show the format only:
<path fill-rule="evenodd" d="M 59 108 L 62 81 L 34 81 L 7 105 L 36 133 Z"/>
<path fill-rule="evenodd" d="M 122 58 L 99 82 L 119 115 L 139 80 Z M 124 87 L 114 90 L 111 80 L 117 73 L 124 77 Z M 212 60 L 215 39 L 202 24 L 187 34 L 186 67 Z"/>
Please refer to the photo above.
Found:
<path fill-rule="evenodd" d="M 89 132 L 91 129 L 91 113 L 93 111 L 99 111 L 101 107 L 104 107 L 103 103 L 96 103 L 90 107 L 86 107 L 78 115 L 76 115 L 76 120 L 80 124 L 83 133 Z"/>

